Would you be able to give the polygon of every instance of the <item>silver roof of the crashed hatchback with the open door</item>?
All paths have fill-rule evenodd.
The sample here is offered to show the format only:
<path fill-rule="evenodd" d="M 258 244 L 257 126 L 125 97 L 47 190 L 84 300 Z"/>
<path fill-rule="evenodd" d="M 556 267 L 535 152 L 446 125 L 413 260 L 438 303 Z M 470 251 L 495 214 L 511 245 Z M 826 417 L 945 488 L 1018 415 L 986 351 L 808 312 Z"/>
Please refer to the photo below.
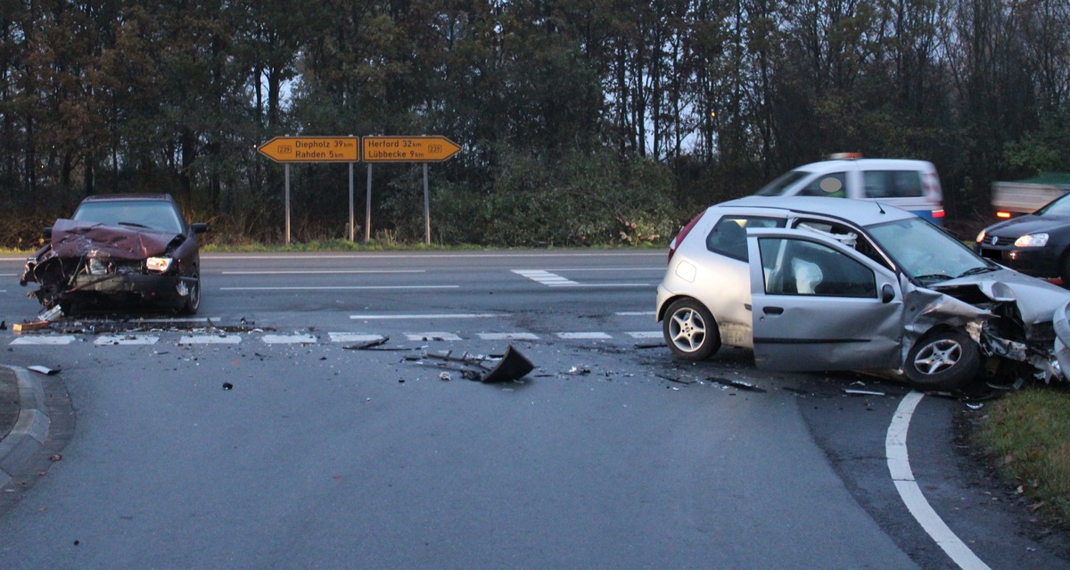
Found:
<path fill-rule="evenodd" d="M 771 208 L 796 213 L 830 215 L 861 226 L 871 226 L 917 215 L 880 200 L 856 200 L 827 196 L 746 196 L 724 201 L 716 208 Z"/>

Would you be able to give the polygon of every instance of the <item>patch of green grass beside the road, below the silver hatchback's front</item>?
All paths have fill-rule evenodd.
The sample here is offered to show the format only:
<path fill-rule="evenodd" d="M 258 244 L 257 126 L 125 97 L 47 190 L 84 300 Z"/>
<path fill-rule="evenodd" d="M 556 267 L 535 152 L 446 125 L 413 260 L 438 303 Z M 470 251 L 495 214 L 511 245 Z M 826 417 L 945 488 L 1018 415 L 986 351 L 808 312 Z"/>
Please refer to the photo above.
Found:
<path fill-rule="evenodd" d="M 1008 394 L 991 404 L 977 437 L 1030 510 L 1070 526 L 1070 392 L 1042 387 Z"/>

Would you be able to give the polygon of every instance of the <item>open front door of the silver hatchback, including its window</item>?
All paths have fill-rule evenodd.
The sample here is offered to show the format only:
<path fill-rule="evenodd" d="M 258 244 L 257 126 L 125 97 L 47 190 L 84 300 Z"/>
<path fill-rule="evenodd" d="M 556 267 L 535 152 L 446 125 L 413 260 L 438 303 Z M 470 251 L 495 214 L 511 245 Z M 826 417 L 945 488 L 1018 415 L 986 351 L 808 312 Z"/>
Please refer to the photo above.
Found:
<path fill-rule="evenodd" d="M 759 368 L 902 364 L 903 295 L 895 272 L 806 230 L 748 229 L 747 249 Z"/>

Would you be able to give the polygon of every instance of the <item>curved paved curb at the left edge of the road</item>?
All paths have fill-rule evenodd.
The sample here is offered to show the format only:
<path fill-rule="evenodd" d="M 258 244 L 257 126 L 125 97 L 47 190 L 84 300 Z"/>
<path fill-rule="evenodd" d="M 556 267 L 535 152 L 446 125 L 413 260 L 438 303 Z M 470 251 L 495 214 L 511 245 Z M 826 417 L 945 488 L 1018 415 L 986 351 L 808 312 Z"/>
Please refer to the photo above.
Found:
<path fill-rule="evenodd" d="M 0 439 L 0 486 L 12 480 L 12 475 L 33 458 L 44 445 L 51 428 L 45 402 L 45 389 L 29 370 L 0 364 L 15 373 L 18 382 L 20 409 L 15 426 Z"/>

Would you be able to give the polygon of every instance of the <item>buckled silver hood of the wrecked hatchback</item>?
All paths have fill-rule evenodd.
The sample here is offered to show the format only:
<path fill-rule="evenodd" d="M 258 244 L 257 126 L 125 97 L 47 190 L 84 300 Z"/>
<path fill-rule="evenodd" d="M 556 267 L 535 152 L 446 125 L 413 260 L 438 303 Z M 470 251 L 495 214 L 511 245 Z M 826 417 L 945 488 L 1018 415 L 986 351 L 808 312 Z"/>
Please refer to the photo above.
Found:
<path fill-rule="evenodd" d="M 930 288 L 975 304 L 977 301 L 964 292 L 972 287 L 991 301 L 1015 303 L 1026 325 L 1051 322 L 1055 311 L 1070 300 L 1067 289 L 1010 269 L 945 281 Z"/>

